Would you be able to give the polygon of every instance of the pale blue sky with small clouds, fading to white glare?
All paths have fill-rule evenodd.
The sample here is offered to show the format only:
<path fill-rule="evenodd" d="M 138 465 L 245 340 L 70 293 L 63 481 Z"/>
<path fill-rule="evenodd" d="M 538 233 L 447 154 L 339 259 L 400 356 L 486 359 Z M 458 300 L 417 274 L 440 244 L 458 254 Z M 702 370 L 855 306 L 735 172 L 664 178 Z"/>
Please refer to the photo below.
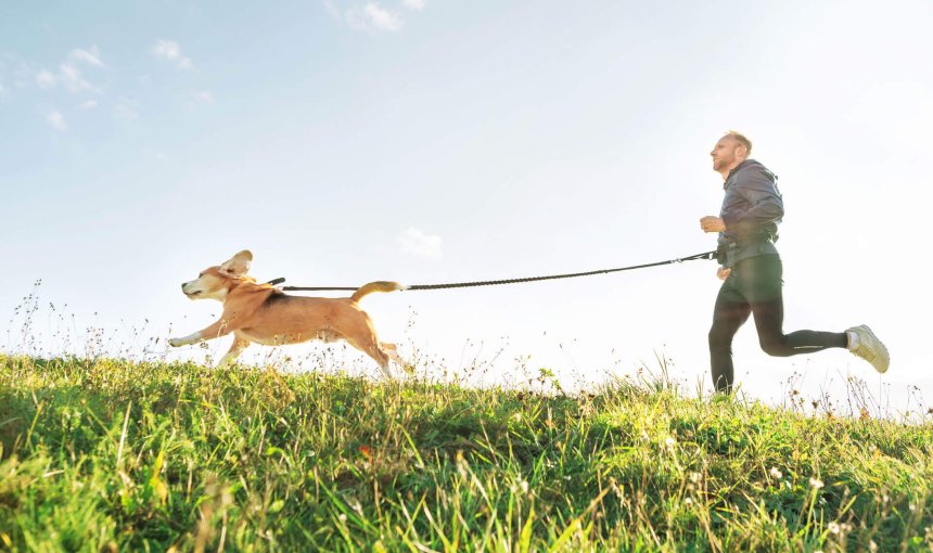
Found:
<path fill-rule="evenodd" d="M 844 351 L 770 359 L 749 324 L 746 391 L 818 396 L 852 375 L 894 407 L 910 385 L 933 397 L 930 28 L 922 1 L 0 4 L 4 348 L 22 346 L 14 310 L 37 279 L 49 350 L 89 327 L 140 352 L 169 325 L 188 334 L 219 305 L 179 284 L 242 248 L 258 279 L 293 285 L 710 249 L 708 152 L 734 128 L 781 179 L 785 331 L 868 323 L 892 351 L 883 378 Z M 600 381 L 663 353 L 694 382 L 718 284 L 693 261 L 365 307 L 402 353 L 457 374 Z M 340 347 L 295 351 L 373 370 Z"/>

